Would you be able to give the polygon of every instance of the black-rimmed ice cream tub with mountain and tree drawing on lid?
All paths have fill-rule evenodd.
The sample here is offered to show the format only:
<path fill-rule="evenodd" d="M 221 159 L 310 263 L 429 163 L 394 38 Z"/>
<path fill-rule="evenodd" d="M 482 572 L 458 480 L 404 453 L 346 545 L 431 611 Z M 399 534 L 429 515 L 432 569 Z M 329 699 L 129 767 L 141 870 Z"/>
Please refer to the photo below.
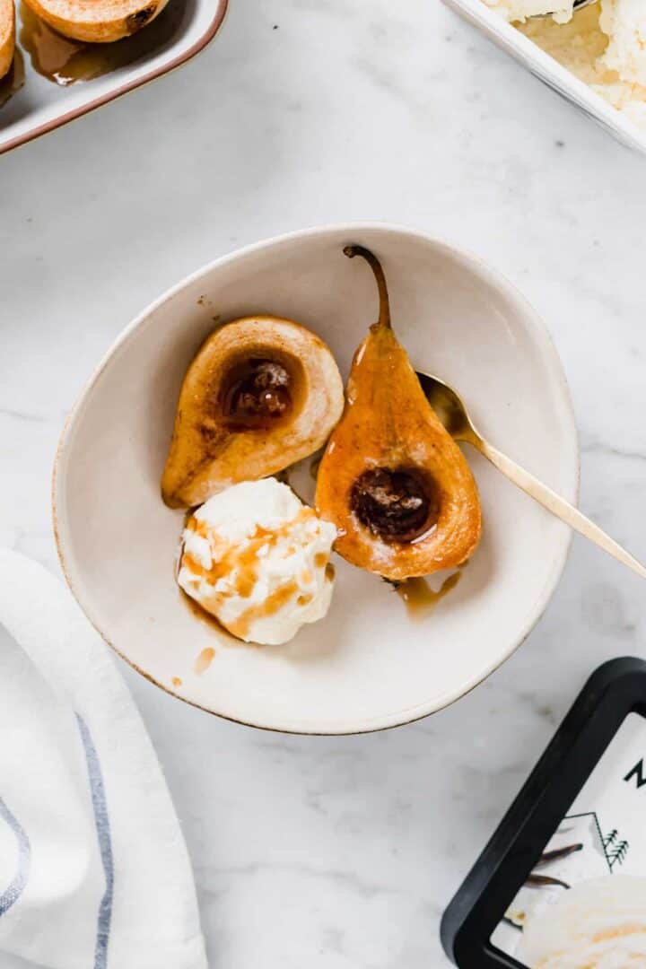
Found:
<path fill-rule="evenodd" d="M 646 966 L 646 663 L 593 673 L 441 933 L 462 969 Z"/>

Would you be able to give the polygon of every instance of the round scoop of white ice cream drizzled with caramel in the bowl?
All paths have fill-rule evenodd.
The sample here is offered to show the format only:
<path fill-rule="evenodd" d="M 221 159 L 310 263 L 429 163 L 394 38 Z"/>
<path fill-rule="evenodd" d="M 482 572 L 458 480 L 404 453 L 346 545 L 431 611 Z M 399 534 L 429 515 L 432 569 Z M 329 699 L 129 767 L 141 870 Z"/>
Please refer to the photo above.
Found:
<path fill-rule="evenodd" d="M 288 485 L 243 482 L 188 519 L 177 581 L 238 639 L 287 642 L 329 609 L 335 538 Z"/>

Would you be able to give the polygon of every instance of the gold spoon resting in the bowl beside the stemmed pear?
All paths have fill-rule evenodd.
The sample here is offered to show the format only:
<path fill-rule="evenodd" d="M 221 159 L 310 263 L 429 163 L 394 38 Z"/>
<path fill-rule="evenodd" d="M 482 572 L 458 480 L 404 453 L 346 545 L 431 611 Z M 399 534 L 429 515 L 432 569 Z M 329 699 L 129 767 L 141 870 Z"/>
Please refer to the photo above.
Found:
<path fill-rule="evenodd" d="M 630 552 L 618 545 L 609 535 L 601 531 L 600 527 L 581 515 L 577 509 L 561 498 L 547 485 L 543 485 L 529 471 L 525 471 L 512 461 L 506 454 L 498 451 L 482 437 L 474 426 L 469 412 L 461 397 L 438 377 L 417 371 L 417 377 L 428 402 L 446 427 L 446 430 L 456 441 L 467 441 L 479 453 L 484 454 L 499 471 L 506 475 L 514 485 L 526 491 L 538 504 L 546 508 L 552 515 L 561 518 L 570 528 L 579 532 L 591 542 L 596 543 L 610 555 L 627 565 L 638 576 L 646 578 L 646 568 L 633 558 Z"/>

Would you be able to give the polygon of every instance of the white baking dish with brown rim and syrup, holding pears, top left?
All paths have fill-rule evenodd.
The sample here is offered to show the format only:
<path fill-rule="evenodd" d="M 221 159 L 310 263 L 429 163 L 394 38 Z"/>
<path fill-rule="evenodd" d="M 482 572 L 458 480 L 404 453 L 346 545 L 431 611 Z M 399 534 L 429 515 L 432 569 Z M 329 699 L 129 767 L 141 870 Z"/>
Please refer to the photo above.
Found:
<path fill-rule="evenodd" d="M 185 64 L 215 37 L 227 4 L 171 0 L 149 26 L 116 44 L 80 45 L 54 35 L 56 57 L 61 49 L 61 63 L 67 57 L 56 82 L 39 63 L 51 59 L 50 52 L 43 56 L 42 21 L 33 30 L 33 15 L 18 0 L 14 78 L 0 81 L 0 154 Z M 69 82 L 94 73 L 101 76 Z"/>

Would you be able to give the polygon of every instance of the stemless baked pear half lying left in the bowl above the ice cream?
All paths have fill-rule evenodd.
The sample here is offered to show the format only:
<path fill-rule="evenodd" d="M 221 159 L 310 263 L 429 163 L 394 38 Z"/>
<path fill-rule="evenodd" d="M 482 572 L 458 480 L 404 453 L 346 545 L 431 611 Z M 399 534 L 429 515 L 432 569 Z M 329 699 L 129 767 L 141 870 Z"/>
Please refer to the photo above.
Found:
<path fill-rule="evenodd" d="M 292 320 L 250 316 L 216 329 L 179 394 L 162 496 L 192 508 L 283 471 L 323 446 L 343 413 L 329 348 Z"/>

